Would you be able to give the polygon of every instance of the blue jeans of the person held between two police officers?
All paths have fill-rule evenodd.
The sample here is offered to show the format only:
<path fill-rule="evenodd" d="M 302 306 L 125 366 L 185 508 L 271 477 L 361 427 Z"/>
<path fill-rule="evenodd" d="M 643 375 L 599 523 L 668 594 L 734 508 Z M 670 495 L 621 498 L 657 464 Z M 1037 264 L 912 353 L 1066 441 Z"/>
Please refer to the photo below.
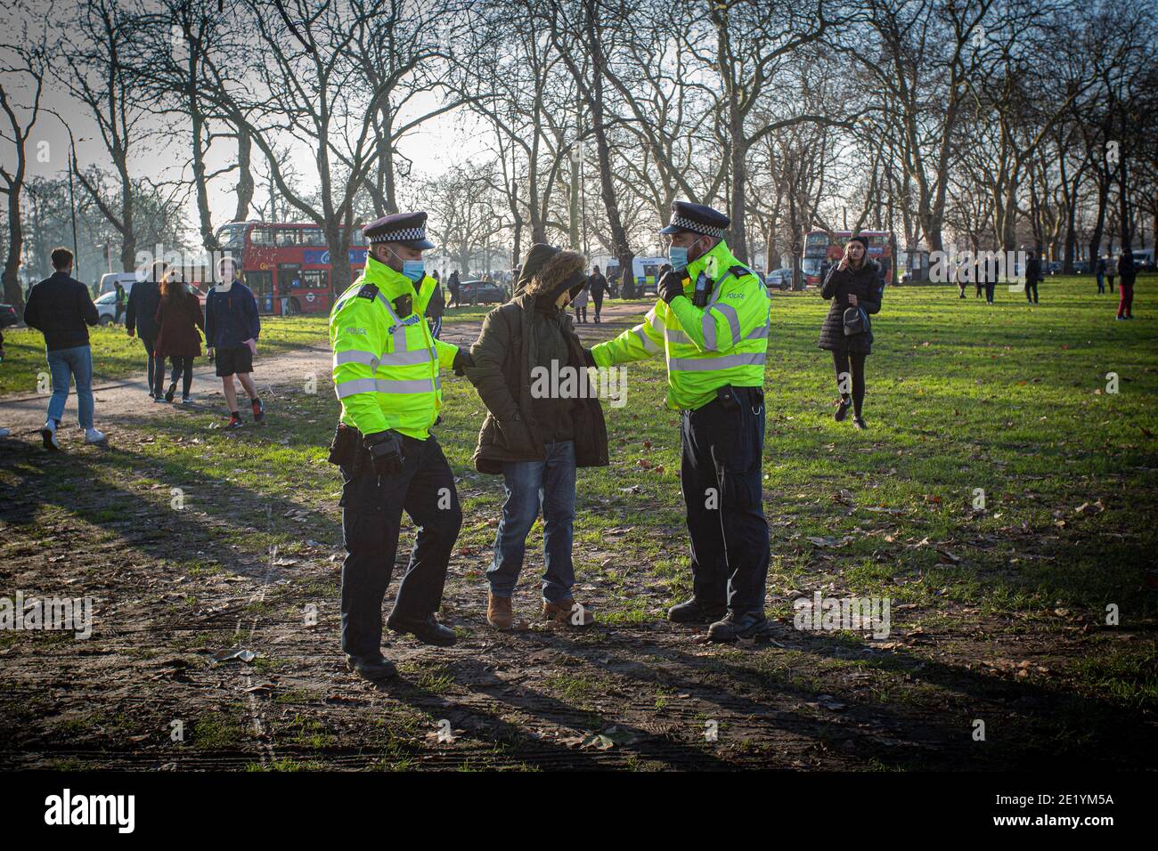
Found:
<path fill-rule="evenodd" d="M 522 570 L 527 534 L 543 511 L 543 600 L 571 596 L 576 584 L 571 542 L 576 518 L 576 447 L 570 440 L 547 445 L 543 461 L 514 461 L 504 465 L 503 519 L 494 535 L 494 559 L 486 578 L 494 596 L 514 593 Z"/>

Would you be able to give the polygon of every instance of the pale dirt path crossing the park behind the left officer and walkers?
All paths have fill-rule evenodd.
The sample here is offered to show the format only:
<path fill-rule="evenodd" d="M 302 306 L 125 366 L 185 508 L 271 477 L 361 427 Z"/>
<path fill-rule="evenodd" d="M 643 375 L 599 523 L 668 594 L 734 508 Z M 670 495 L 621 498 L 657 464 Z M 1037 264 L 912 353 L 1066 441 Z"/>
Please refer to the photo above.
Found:
<path fill-rule="evenodd" d="M 613 333 L 618 333 L 629 323 L 624 317 L 633 316 L 642 310 L 646 310 L 648 302 L 616 302 L 604 308 L 603 316 L 606 323 L 595 325 L 588 323 L 578 325 L 579 335 L 585 340 L 595 342 Z M 594 315 L 594 308 L 588 307 L 588 317 Z M 442 339 L 455 344 L 470 344 L 478 337 L 481 322 L 447 323 L 442 328 Z M 330 349 L 324 342 L 307 349 L 302 349 L 288 354 L 279 354 L 272 358 L 261 355 L 254 362 L 254 375 L 258 389 L 267 388 L 271 381 L 283 384 L 288 376 L 300 376 L 305 382 L 308 375 L 329 375 L 330 373 Z M 129 419 L 140 417 L 152 417 L 169 410 L 168 405 L 154 404 L 146 395 L 148 384 L 145 371 L 139 375 L 104 382 L 93 388 L 94 404 L 96 409 L 96 427 L 108 432 L 108 426 L 124 425 Z M 240 398 L 244 398 L 241 386 L 237 386 Z M 221 404 L 221 381 L 214 373 L 213 365 L 205 358 L 199 358 L 193 367 L 193 390 L 195 404 Z M 0 425 L 12 428 L 14 435 L 27 435 L 29 432 L 38 431 L 44 425 L 44 415 L 47 409 L 47 395 L 14 395 L 0 396 Z M 64 424 L 71 425 L 76 421 L 76 393 L 71 393 L 68 403 L 65 406 Z"/>

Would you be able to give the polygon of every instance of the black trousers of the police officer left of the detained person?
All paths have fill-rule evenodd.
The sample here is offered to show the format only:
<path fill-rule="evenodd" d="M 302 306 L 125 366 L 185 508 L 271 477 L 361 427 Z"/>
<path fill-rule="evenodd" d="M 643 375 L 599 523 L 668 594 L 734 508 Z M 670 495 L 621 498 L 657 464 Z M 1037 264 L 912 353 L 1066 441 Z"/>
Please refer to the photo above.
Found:
<path fill-rule="evenodd" d="M 454 475 L 433 435 L 403 436 L 401 474 L 358 476 L 342 465 L 342 650 L 374 659 L 382 652 L 382 600 L 390 584 L 402 512 L 418 527 L 410 564 L 398 584 L 394 611 L 423 618 L 442 603 L 446 567 L 462 527 Z"/>

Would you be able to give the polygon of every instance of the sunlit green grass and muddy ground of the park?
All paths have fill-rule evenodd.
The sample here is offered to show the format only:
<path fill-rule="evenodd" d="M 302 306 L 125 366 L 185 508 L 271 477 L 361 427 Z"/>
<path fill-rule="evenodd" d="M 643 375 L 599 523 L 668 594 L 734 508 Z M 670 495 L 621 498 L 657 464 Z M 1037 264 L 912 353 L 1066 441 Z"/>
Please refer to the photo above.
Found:
<path fill-rule="evenodd" d="M 689 577 L 677 415 L 662 408 L 662 361 L 629 365 L 626 405 L 604 408 L 610 468 L 579 475 L 577 595 L 600 618 L 582 633 L 486 628 L 483 571 L 501 486 L 470 464 L 481 402 L 464 380 L 444 381 L 437 433 L 466 521 L 442 618 L 462 640 L 438 651 L 388 639 L 403 682 L 383 689 L 340 670 L 339 479 L 324 448 L 337 403 L 328 383 L 310 395 L 301 376 L 277 376 L 267 424 L 235 434 L 211 428 L 219 412 L 204 409 L 129 412 L 104 453 L 46 457 L 31 443 L 0 443 L 0 498 L 9 500 L 2 587 L 90 593 L 105 624 L 87 643 L 0 633 L 0 741 L 9 742 L 0 760 L 258 769 L 1152 764 L 1153 284 L 1139 279 L 1134 322 L 1115 322 L 1116 296 L 1093 294 L 1089 278 L 1051 278 L 1036 307 L 1004 289 L 987 307 L 955 288 L 891 288 L 873 323 L 866 432 L 831 419 L 831 362 L 815 347 L 826 303 L 815 293 L 776 294 L 764 507 L 768 610 L 778 621 L 769 644 L 713 647 L 665 621 Z M 447 323 L 482 313 L 464 309 Z M 284 345 L 320 339 L 316 322 L 287 321 Z M 277 322 L 267 327 L 272 344 Z M 30 347 L 8 339 L 9 358 L 17 339 Z M 120 357 L 119 338 L 94 340 L 111 345 L 110 362 Z M 404 527 L 403 564 L 410 535 Z M 516 597 L 528 621 L 541 564 L 536 524 Z M 794 630 L 792 601 L 816 590 L 889 597 L 892 633 Z M 317 625 L 302 619 L 310 610 Z M 229 647 L 257 659 L 213 659 Z M 65 680 L 86 683 L 83 700 L 59 691 Z M 193 731 L 188 741 L 169 740 L 173 718 Z M 456 741 L 433 735 L 442 719 Z M 972 735 L 977 719 L 984 742 Z M 705 741 L 708 721 L 718 722 L 718 741 Z"/>

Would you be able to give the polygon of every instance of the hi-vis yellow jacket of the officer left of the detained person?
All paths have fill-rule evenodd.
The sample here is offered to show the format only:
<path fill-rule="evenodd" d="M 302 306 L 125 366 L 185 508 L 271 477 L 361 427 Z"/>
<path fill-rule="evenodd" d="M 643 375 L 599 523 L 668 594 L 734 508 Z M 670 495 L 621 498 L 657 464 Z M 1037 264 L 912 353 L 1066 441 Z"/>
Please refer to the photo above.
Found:
<path fill-rule="evenodd" d="M 394 428 L 425 440 L 442 408 L 439 367 L 454 364 L 459 346 L 431 336 L 424 318 L 435 281 L 418 286 L 367 256 L 361 276 L 330 310 L 334 390 L 342 421 L 362 434 Z M 394 300 L 410 295 L 412 309 L 398 316 Z"/>

